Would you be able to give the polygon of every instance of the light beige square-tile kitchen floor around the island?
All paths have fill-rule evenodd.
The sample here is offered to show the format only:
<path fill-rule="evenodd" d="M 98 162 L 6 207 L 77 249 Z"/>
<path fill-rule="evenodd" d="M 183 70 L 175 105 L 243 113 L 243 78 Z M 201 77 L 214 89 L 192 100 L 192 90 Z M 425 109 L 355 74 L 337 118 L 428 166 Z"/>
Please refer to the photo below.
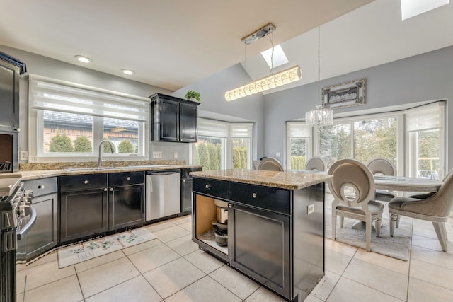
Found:
<path fill-rule="evenodd" d="M 329 217 L 330 218 L 330 217 Z M 190 216 L 147 228 L 158 239 L 58 268 L 57 252 L 18 265 L 17 301 L 283 301 L 197 248 Z M 326 238 L 326 275 L 305 301 L 453 301 L 453 219 L 449 252 L 432 224 L 414 220 L 407 262 Z"/>

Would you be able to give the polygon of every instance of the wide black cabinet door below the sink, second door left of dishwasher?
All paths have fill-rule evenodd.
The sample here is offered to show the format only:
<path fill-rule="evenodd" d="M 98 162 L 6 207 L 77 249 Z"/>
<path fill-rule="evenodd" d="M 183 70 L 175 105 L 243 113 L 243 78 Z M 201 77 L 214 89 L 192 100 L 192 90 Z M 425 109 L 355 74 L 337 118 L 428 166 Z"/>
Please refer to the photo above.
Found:
<path fill-rule="evenodd" d="M 107 231 L 107 197 L 106 188 L 60 193 L 60 242 Z"/>

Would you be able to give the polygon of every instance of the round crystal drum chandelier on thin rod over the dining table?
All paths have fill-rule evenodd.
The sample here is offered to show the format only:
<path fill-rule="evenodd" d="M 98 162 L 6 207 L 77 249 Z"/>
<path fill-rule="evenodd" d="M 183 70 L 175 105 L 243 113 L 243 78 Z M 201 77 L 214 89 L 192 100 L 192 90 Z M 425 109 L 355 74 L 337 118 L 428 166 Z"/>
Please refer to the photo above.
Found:
<path fill-rule="evenodd" d="M 305 113 L 305 124 L 309 127 L 322 127 L 333 124 L 333 110 L 324 108 L 321 104 L 321 91 L 319 83 L 321 81 L 321 64 L 320 64 L 320 44 L 321 44 L 320 27 L 318 26 L 318 105 L 309 112 Z"/>

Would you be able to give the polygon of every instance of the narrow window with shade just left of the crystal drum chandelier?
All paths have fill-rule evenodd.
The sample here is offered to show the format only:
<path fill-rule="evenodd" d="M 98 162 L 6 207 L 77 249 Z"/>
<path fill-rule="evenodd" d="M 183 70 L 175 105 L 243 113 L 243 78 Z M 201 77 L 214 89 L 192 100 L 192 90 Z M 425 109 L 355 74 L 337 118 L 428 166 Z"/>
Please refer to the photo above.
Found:
<path fill-rule="evenodd" d="M 287 158 L 289 170 L 304 170 L 311 157 L 311 128 L 305 122 L 287 122 Z"/>

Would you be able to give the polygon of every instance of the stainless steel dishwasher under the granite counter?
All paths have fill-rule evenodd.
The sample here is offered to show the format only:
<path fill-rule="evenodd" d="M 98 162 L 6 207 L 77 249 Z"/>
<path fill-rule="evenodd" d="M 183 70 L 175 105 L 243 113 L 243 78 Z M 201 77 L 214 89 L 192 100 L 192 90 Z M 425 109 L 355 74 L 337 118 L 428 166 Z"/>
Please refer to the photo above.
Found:
<path fill-rule="evenodd" d="M 146 221 L 180 213 L 180 170 L 147 172 Z"/>

